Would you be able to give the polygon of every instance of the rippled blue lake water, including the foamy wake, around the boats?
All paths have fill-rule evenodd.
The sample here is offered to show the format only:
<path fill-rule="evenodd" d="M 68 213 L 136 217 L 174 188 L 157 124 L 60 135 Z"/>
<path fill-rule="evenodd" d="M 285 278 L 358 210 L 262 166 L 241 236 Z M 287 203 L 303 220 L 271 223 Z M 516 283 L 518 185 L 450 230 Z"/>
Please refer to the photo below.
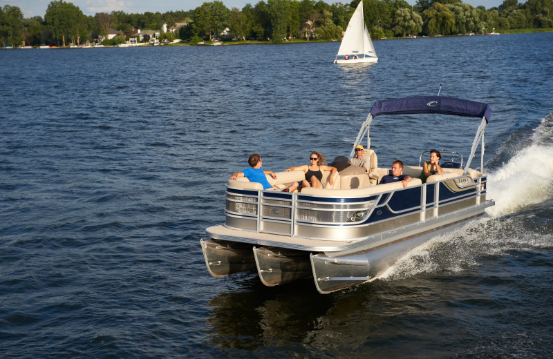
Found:
<path fill-rule="evenodd" d="M 2 358 L 553 358 L 553 33 L 0 51 Z M 489 220 L 320 295 L 212 278 L 200 238 L 254 152 L 348 155 L 373 101 L 486 102 Z M 379 166 L 468 155 L 478 119 L 377 117 Z M 479 157 L 474 167 L 479 166 Z"/>

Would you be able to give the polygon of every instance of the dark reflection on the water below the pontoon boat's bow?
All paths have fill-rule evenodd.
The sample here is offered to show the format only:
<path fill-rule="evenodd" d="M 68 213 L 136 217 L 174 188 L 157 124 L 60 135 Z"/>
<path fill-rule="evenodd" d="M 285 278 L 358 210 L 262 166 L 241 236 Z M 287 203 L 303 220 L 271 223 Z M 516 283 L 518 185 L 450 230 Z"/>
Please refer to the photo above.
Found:
<path fill-rule="evenodd" d="M 301 342 L 333 304 L 332 296 L 319 295 L 312 280 L 265 287 L 259 278 L 252 278 L 241 287 L 209 302 L 216 347 L 254 350 Z"/>

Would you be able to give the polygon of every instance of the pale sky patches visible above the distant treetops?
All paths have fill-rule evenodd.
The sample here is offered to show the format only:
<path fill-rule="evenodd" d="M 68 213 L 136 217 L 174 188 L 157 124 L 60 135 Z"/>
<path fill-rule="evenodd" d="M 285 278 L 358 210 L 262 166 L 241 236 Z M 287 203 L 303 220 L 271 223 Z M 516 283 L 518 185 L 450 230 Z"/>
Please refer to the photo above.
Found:
<path fill-rule="evenodd" d="M 0 0 L 0 6 L 5 5 L 18 6 L 23 12 L 25 18 L 40 16 L 44 17 L 46 8 L 52 0 Z M 65 0 L 68 3 L 78 6 L 85 15 L 94 15 L 97 12 L 112 12 L 122 10 L 126 13 L 144 12 L 167 12 L 176 10 L 191 10 L 201 6 L 205 2 L 212 0 Z M 241 9 L 247 3 L 255 5 L 260 0 L 221 0 L 227 8 Z M 324 0 L 327 3 L 349 3 L 348 0 Z M 406 0 L 411 5 L 415 5 L 416 0 Z M 525 2 L 521 0 L 522 2 Z M 519 2 L 521 2 L 519 1 Z M 266 1 L 265 1 L 266 2 Z M 483 5 L 485 8 L 500 6 L 503 0 L 463 0 L 472 6 Z"/>

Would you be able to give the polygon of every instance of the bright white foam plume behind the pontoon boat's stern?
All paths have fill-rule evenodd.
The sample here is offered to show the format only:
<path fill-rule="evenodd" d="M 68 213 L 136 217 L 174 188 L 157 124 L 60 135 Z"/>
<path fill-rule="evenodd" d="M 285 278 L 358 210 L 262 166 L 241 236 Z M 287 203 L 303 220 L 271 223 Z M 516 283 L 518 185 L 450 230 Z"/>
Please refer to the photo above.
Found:
<path fill-rule="evenodd" d="M 553 197 L 552 125 L 550 116 L 545 117 L 534 130 L 532 145 L 488 175 L 486 197 L 496 201 L 486 210 L 491 217 L 514 213 Z"/>

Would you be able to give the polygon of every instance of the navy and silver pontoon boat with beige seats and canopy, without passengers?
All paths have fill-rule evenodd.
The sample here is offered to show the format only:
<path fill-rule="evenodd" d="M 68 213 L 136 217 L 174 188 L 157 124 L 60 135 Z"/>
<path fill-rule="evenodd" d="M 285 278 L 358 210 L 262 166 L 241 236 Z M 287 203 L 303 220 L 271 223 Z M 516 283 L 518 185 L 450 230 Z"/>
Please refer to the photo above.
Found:
<path fill-rule="evenodd" d="M 481 119 L 467 161 L 451 152 L 442 162 L 442 175 L 431 175 L 424 184 L 417 178 L 420 162 L 404 166 L 403 173 L 413 177 L 406 188 L 401 182 L 377 184 L 388 168 L 377 167 L 370 149 L 373 118 L 421 113 Z M 485 208 L 494 205 L 486 200 L 486 175 L 470 168 L 479 145 L 484 167 L 490 115 L 487 104 L 453 97 L 377 101 L 353 144 L 355 148 L 366 136 L 364 156 L 371 160 L 367 172 L 344 163 L 343 157 L 343 162 L 335 161 L 339 171 L 332 186 L 330 173 L 324 173 L 324 188 L 299 193 L 281 190 L 305 179 L 303 171 L 268 176 L 272 188 L 266 191 L 245 177 L 229 180 L 225 224 L 209 227 L 210 239 L 200 240 L 209 273 L 222 277 L 256 270 L 267 286 L 313 278 L 320 293 L 378 278 L 416 246 L 484 216 Z"/>

